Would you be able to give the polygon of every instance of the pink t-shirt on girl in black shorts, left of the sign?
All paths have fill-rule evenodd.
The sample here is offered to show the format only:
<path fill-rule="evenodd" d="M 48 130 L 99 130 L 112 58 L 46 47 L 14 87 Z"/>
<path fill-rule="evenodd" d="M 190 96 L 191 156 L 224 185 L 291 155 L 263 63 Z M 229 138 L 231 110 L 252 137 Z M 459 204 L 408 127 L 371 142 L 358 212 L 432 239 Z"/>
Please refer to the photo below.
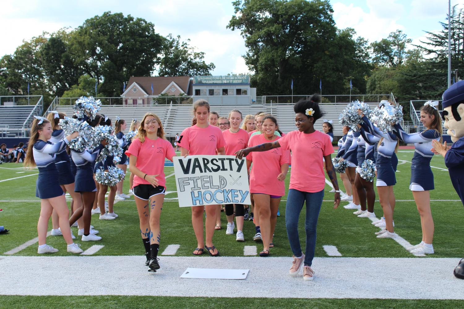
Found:
<path fill-rule="evenodd" d="M 137 157 L 135 166 L 148 175 L 156 175 L 158 185 L 166 187 L 166 178 L 164 176 L 164 158 L 169 160 L 175 156 L 174 148 L 166 139 L 148 139 L 142 143 L 140 139 L 133 139 L 126 155 Z M 150 184 L 142 177 L 134 175 L 134 187 L 139 184 Z M 132 189 L 132 188 L 131 188 Z"/>

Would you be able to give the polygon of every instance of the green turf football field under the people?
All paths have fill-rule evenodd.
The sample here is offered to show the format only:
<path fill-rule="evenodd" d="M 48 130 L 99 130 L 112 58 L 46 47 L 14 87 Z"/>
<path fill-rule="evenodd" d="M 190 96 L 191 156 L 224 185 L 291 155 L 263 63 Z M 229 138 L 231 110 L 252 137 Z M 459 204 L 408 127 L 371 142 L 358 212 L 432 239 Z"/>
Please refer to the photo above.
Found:
<path fill-rule="evenodd" d="M 399 160 L 411 161 L 413 150 L 400 151 Z M 432 215 L 435 222 L 434 250 L 435 254 L 427 255 L 431 258 L 462 258 L 464 249 L 462 240 L 462 221 L 464 217 L 464 208 L 459 201 L 458 195 L 451 185 L 449 174 L 446 170 L 443 158 L 435 156 L 432 159 L 432 168 L 434 173 L 435 190 L 431 191 Z M 39 217 L 40 201 L 35 197 L 35 181 L 37 170 L 25 170 L 20 164 L 1 164 L 0 166 L 0 225 L 10 229 L 8 234 L 0 235 L 0 258 L 3 252 L 24 244 L 28 240 L 37 237 L 37 219 Z M 411 244 L 417 244 L 421 240 L 421 227 L 419 214 L 413 201 L 412 193 L 408 189 L 410 178 L 411 164 L 408 162 L 399 162 L 398 172 L 396 173 L 397 184 L 394 187 L 397 203 L 394 214 L 395 232 Z M 165 167 L 165 174 L 168 176 L 174 172 L 173 167 Z M 291 170 L 290 170 L 291 172 Z M 289 172 L 289 174 L 290 174 Z M 32 175 L 32 176 L 28 176 Z M 21 178 L 17 178 L 21 177 Z M 12 179 L 16 178 L 16 179 Z M 124 183 L 124 193 L 129 190 L 129 177 Z M 286 188 L 290 175 L 287 175 Z M 342 182 L 339 179 L 341 189 L 344 191 Z M 175 191 L 176 186 L 174 177 L 167 179 L 167 191 Z M 389 257 L 389 258 L 414 258 L 411 253 L 407 252 L 402 246 L 393 240 L 382 240 L 375 238 L 374 232 L 378 228 L 371 225 L 367 218 L 358 218 L 353 210 L 344 209 L 342 206 L 347 202 L 342 202 L 338 209 L 333 209 L 333 193 L 329 185 L 325 187 L 324 201 L 317 228 L 317 245 L 316 257 L 328 257 L 322 248 L 323 245 L 336 246 L 343 257 Z M 191 224 L 191 211 L 189 208 L 179 208 L 175 198 L 176 193 L 166 195 L 163 212 L 161 214 L 161 245 L 160 252 L 171 244 L 180 245 L 176 256 L 191 256 L 191 252 L 196 247 L 196 239 Z M 271 250 L 271 256 L 290 257 L 292 255 L 290 246 L 287 241 L 285 231 L 285 200 L 282 198 L 280 204 L 281 216 L 277 219 L 274 244 Z M 451 201 L 443 201 L 451 200 Z M 68 202 L 69 203 L 69 202 Z M 92 225 L 100 231 L 99 236 L 103 239 L 98 241 L 98 245 L 104 247 L 95 253 L 95 255 L 142 255 L 144 252 L 140 240 L 138 215 L 135 208 L 134 198 L 117 202 L 115 212 L 119 218 L 113 221 L 99 220 L 98 215 L 92 216 Z M 376 202 L 374 208 L 378 218 L 382 215 L 380 204 Z M 243 256 L 244 246 L 257 246 L 258 252 L 262 250 L 262 244 L 254 242 L 252 236 L 255 233 L 254 225 L 251 221 L 246 221 L 244 226 L 245 242 L 235 241 L 234 235 L 226 235 L 226 217 L 222 217 L 222 230 L 214 234 L 214 245 L 219 249 L 222 256 Z M 304 218 L 303 214 L 300 218 Z M 304 222 L 300 221 L 300 238 L 304 237 Z M 49 230 L 52 228 L 51 222 Z M 77 236 L 77 228 L 73 227 L 73 232 Z M 79 237 L 77 243 L 82 244 L 82 249 L 86 250 L 96 242 L 81 242 Z M 60 249 L 54 253 L 57 256 L 68 256 L 65 250 L 65 242 L 61 236 L 49 236 L 47 244 Z M 14 254 L 15 256 L 38 256 L 37 244 L 28 246 L 24 250 Z M 204 254 L 199 258 L 209 257 Z M 26 303 L 37 303 L 37 308 L 47 307 L 53 299 L 56 307 L 76 306 L 76 303 L 89 303 L 94 308 L 108 308 L 107 296 L 76 296 L 76 297 L 24 297 L 0 296 L 0 308 L 19 308 L 27 307 Z M 120 297 L 112 298 L 113 302 L 127 308 L 147 308 L 149 297 Z M 160 298 L 161 299 L 161 298 Z M 160 302 L 160 299 L 157 301 Z M 204 298 L 180 298 L 186 307 L 213 307 L 210 300 Z M 166 308 L 177 308 L 176 297 L 164 297 L 162 303 Z M 219 302 L 218 307 L 238 308 L 241 305 L 248 307 L 268 307 L 268 308 L 290 308 L 296 306 L 303 307 L 342 307 L 342 308 L 413 308 L 419 306 L 434 306 L 437 308 L 457 308 L 458 303 L 453 301 L 409 301 L 398 300 L 335 300 L 335 299 L 312 299 L 305 301 L 301 299 L 284 299 L 281 304 L 274 303 L 271 299 L 216 299 Z M 111 303 L 111 302 L 110 302 Z M 6 305 L 7 304 L 7 305 Z M 21 305 L 22 304 L 22 305 Z M 210 306 L 211 305 L 211 306 Z M 53 307 L 53 306 L 51 306 Z M 77 307 L 80 307 L 77 305 Z M 215 306 L 216 307 L 216 306 Z"/>

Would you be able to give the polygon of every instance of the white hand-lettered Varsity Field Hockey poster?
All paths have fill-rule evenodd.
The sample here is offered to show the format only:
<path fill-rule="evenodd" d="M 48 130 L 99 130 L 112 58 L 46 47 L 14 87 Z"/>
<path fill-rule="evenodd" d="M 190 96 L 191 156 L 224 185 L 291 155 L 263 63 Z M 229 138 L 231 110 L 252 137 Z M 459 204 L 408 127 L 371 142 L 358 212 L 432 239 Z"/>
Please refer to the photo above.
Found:
<path fill-rule="evenodd" d="M 174 157 L 179 207 L 251 204 L 245 159 L 234 156 Z"/>

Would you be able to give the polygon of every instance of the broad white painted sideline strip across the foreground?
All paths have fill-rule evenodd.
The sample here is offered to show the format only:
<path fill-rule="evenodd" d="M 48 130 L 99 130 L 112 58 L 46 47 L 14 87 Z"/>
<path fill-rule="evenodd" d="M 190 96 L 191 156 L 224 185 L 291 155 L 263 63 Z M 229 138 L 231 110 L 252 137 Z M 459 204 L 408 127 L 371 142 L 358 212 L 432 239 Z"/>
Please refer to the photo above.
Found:
<path fill-rule="evenodd" d="M 161 269 L 150 273 L 142 256 L 89 256 L 85 260 L 75 255 L 5 256 L 0 268 L 2 282 L 8 284 L 2 286 L 0 294 L 464 299 L 464 280 L 453 276 L 459 258 L 315 258 L 315 279 L 306 282 L 301 275 L 288 275 L 290 257 L 161 256 Z M 102 267 L 109 262 L 111 267 Z M 250 270 L 246 280 L 201 279 L 186 288 L 185 279 L 179 278 L 187 267 L 242 269 L 243 265 Z M 388 275 L 372 276 L 367 270 Z M 69 278 L 78 278 L 79 284 Z M 140 288 L 152 286 L 154 280 L 156 289 Z M 89 289 L 96 282 L 98 289 Z"/>

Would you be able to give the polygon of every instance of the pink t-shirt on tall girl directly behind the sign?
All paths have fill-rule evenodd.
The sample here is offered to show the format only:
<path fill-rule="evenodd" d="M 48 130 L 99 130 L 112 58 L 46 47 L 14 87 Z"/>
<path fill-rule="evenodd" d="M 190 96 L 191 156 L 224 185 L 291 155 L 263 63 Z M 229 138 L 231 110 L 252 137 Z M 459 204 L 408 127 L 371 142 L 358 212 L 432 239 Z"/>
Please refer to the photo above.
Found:
<path fill-rule="evenodd" d="M 189 126 L 180 134 L 177 145 L 188 150 L 193 155 L 215 155 L 216 149 L 226 147 L 226 141 L 221 129 L 208 125 L 206 128 Z"/>

